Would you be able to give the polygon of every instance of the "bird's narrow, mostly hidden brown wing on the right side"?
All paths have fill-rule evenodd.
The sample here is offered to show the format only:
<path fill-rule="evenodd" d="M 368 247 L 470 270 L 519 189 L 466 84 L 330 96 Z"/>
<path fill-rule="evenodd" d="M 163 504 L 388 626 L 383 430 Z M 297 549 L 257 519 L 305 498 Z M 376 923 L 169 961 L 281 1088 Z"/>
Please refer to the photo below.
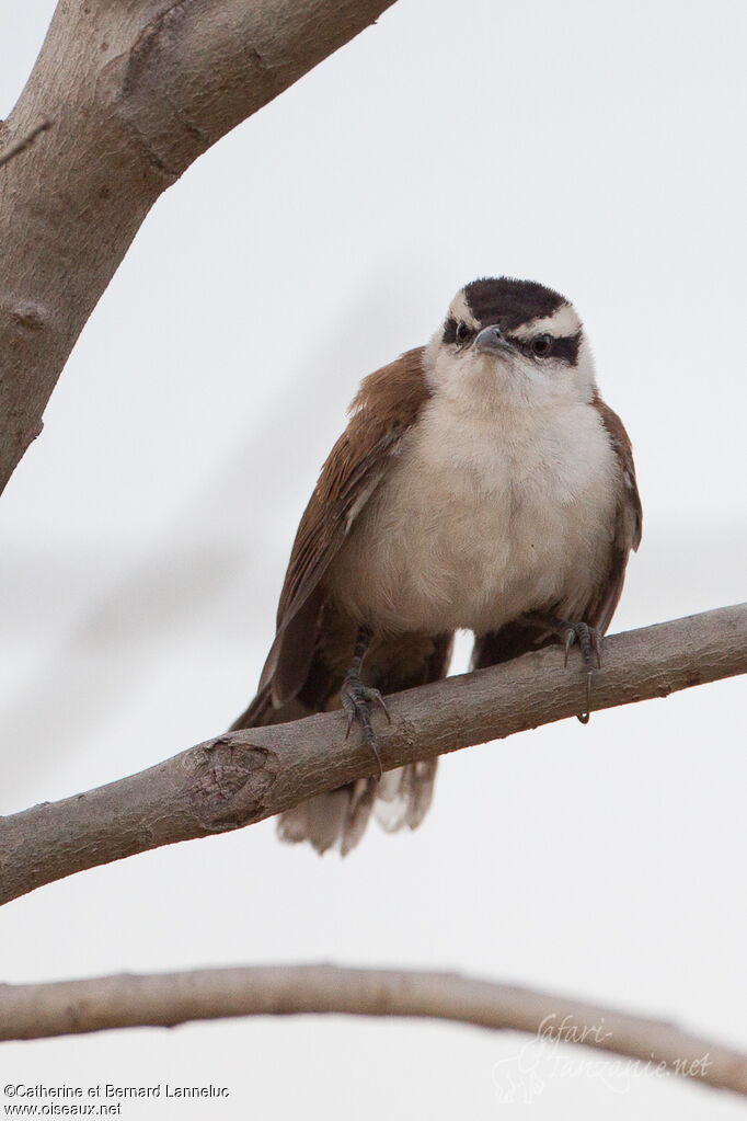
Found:
<path fill-rule="evenodd" d="M 591 404 L 599 413 L 601 423 L 607 430 L 623 478 L 607 572 L 583 613 L 583 622 L 591 627 L 598 627 L 604 634 L 611 622 L 623 592 L 625 568 L 631 549 L 637 549 L 641 544 L 643 511 L 635 480 L 633 447 L 625 426 L 617 414 L 608 405 L 605 405 L 599 396 L 596 396 Z M 576 621 L 569 620 L 569 622 Z M 475 639 L 473 669 L 495 666 L 510 658 L 516 658 L 527 650 L 539 650 L 555 641 L 553 634 L 540 627 L 527 627 L 525 623 L 519 622 L 508 623 L 499 631 L 480 634 Z"/>

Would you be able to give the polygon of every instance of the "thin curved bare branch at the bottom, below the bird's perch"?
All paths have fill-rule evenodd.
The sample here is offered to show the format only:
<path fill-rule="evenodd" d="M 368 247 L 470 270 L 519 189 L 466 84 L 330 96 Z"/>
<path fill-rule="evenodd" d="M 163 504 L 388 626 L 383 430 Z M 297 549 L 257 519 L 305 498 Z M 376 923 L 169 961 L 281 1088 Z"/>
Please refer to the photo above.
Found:
<path fill-rule="evenodd" d="M 662 1020 L 458 973 L 291 965 L 0 985 L 0 1039 L 302 1012 L 428 1017 L 525 1031 L 545 1046 L 580 1043 L 638 1059 L 646 1071 L 667 1069 L 747 1095 L 747 1055 Z"/>

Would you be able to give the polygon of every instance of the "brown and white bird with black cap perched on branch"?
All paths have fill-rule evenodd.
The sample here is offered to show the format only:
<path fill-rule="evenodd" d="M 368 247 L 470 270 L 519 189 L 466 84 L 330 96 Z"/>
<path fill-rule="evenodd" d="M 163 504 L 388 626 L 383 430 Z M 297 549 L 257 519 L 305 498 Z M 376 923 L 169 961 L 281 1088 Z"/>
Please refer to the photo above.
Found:
<path fill-rule="evenodd" d="M 582 722 L 642 508 L 629 437 L 581 319 L 533 280 L 467 284 L 424 346 L 361 383 L 301 518 L 258 693 L 232 730 L 344 708 L 375 773 L 279 815 L 282 840 L 345 855 L 373 816 L 415 828 L 437 760 L 382 775 L 385 697 L 578 643 Z M 564 671 L 568 671 L 567 669 Z"/>

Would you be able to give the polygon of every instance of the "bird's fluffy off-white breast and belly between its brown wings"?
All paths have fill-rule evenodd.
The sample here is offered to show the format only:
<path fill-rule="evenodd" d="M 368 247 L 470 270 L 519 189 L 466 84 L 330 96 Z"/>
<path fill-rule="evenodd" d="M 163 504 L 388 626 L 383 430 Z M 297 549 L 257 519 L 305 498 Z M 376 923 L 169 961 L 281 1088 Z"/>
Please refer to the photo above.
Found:
<path fill-rule="evenodd" d="M 424 407 L 328 574 L 374 630 L 478 633 L 555 606 L 578 619 L 608 563 L 619 471 L 572 401 L 465 417 Z"/>

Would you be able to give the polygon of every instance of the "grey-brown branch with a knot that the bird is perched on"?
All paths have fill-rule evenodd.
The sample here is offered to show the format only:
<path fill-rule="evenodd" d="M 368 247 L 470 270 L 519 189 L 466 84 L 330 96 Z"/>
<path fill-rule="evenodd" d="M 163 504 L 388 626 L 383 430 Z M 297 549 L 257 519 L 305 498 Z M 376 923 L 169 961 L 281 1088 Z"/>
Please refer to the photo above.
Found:
<path fill-rule="evenodd" d="M 391 698 L 380 732 L 386 770 L 573 716 L 585 677 L 548 648 Z M 747 673 L 747 604 L 605 641 L 592 708 Z M 390 698 L 387 698 L 389 701 Z M 342 713 L 232 732 L 148 770 L 0 819 L 0 902 L 134 853 L 251 825 L 371 773 Z M 579 735 L 583 732 L 579 730 Z"/>

